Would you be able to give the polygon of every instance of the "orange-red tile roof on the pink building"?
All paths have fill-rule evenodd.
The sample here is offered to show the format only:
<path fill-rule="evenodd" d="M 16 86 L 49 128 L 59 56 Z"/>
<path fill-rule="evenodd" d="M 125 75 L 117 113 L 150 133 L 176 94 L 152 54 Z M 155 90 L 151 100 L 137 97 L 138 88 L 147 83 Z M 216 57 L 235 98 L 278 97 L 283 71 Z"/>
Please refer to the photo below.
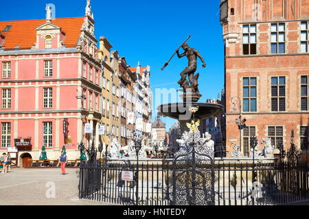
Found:
<path fill-rule="evenodd" d="M 36 27 L 46 23 L 45 19 L 23 20 L 23 21 L 0 21 L 0 31 L 3 31 L 6 25 L 12 25 L 8 32 L 0 32 L 5 36 L 2 47 L 5 50 L 14 49 L 20 46 L 20 49 L 31 49 L 36 43 Z M 76 47 L 80 37 L 80 29 L 84 23 L 84 17 L 78 18 L 56 18 L 52 20 L 54 25 L 61 27 L 65 32 L 64 44 L 66 47 Z"/>

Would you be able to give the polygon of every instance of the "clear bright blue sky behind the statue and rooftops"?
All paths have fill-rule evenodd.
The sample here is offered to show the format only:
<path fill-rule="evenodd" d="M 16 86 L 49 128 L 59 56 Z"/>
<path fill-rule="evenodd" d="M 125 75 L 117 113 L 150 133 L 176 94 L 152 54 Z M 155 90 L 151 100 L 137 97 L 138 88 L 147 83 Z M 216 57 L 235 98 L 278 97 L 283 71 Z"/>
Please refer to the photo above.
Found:
<path fill-rule="evenodd" d="M 84 16 L 86 0 L 1 1 L 0 21 L 45 18 L 45 4 L 56 5 L 56 18 Z M 175 88 L 187 59 L 174 59 L 161 71 L 177 47 L 192 34 L 190 47 L 198 49 L 207 63 L 200 73 L 200 101 L 216 99 L 224 86 L 224 51 L 219 23 L 220 0 L 91 0 L 95 36 L 105 36 L 113 50 L 125 56 L 130 66 L 150 65 L 150 82 L 156 88 Z M 154 105 L 153 118 L 157 115 Z M 163 118 L 169 129 L 176 120 Z"/>

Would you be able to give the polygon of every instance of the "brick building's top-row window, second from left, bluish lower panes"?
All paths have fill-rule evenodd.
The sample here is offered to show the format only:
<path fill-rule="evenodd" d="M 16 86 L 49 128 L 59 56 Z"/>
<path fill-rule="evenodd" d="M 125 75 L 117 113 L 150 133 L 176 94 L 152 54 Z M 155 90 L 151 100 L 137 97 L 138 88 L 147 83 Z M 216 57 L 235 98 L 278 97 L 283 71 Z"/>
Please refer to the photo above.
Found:
<path fill-rule="evenodd" d="M 271 24 L 271 53 L 285 53 L 285 24 L 273 23 Z"/>

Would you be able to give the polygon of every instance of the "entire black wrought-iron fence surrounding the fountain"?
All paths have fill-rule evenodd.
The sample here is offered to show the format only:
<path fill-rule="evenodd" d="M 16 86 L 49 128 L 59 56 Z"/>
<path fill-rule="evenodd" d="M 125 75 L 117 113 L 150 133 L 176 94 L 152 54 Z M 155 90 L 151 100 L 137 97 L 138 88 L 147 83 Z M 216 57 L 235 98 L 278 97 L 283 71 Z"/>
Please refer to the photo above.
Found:
<path fill-rule="evenodd" d="M 176 190 L 174 195 L 181 179 L 173 180 L 173 160 L 139 161 L 138 166 L 119 161 L 106 165 L 84 163 L 80 166 L 79 196 L 115 205 L 201 205 L 190 199 L 192 185 L 188 183 L 194 183 L 191 170 L 177 171 L 184 174 L 185 187 L 183 194 Z M 214 183 L 208 187 L 211 190 L 201 190 L 208 191 L 210 201 L 203 205 L 282 205 L 309 199 L 308 165 L 301 162 L 291 165 L 257 160 L 253 165 L 249 160 L 216 159 L 213 168 L 198 164 L 196 176 L 200 173 L 214 175 Z M 199 185 L 195 186 L 198 198 Z"/>

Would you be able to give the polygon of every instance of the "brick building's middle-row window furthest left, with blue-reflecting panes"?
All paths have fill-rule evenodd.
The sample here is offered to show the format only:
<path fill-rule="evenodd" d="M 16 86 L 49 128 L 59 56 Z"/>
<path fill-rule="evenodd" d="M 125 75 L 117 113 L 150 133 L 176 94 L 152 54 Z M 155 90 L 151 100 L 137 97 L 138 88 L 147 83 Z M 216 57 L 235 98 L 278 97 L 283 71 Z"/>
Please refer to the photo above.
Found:
<path fill-rule="evenodd" d="M 243 112 L 257 111 L 257 79 L 256 77 L 244 77 L 242 83 Z"/>

